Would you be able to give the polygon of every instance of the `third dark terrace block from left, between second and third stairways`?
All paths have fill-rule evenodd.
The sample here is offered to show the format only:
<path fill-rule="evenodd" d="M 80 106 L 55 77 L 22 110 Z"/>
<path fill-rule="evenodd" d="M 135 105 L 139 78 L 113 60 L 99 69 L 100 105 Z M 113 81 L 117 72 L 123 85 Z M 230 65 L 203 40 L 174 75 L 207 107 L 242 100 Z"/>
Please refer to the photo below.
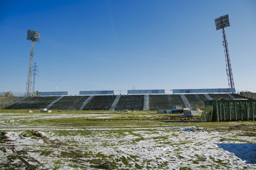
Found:
<path fill-rule="evenodd" d="M 95 95 L 83 110 L 109 110 L 116 95 Z"/>

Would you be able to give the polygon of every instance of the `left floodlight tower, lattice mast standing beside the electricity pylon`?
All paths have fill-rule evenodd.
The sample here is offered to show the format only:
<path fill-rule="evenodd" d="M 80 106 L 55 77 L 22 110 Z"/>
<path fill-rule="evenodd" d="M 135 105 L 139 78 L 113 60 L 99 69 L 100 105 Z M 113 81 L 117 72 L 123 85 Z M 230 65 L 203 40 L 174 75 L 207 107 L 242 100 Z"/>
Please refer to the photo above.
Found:
<path fill-rule="evenodd" d="M 27 83 L 26 83 L 26 96 L 30 96 L 30 90 L 31 90 L 31 81 L 32 81 L 32 62 L 33 62 L 33 56 L 34 56 L 34 41 L 39 42 L 40 33 L 36 32 L 34 30 L 28 30 L 27 34 L 27 40 L 32 41 L 31 44 L 31 52 L 30 52 L 30 62 L 29 62 L 29 70 L 28 70 L 28 77 L 27 77 Z"/>

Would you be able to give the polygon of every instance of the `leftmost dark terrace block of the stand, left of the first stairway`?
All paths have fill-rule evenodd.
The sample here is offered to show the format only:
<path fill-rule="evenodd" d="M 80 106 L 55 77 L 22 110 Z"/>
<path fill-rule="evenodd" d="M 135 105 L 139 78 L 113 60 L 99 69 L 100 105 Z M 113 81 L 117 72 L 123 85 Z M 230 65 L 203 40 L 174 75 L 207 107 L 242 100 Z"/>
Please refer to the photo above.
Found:
<path fill-rule="evenodd" d="M 46 108 L 53 100 L 58 99 L 59 96 L 36 96 L 28 97 L 25 100 L 21 100 L 7 109 L 40 109 Z"/>

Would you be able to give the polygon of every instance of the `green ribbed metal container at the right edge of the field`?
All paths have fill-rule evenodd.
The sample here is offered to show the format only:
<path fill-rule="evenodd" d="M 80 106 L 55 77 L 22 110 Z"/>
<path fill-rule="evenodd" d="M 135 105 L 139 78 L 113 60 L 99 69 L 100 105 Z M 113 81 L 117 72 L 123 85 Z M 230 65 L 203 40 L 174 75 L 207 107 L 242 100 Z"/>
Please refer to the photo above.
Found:
<path fill-rule="evenodd" d="M 212 121 L 256 120 L 256 100 L 209 100 L 213 106 Z"/>

